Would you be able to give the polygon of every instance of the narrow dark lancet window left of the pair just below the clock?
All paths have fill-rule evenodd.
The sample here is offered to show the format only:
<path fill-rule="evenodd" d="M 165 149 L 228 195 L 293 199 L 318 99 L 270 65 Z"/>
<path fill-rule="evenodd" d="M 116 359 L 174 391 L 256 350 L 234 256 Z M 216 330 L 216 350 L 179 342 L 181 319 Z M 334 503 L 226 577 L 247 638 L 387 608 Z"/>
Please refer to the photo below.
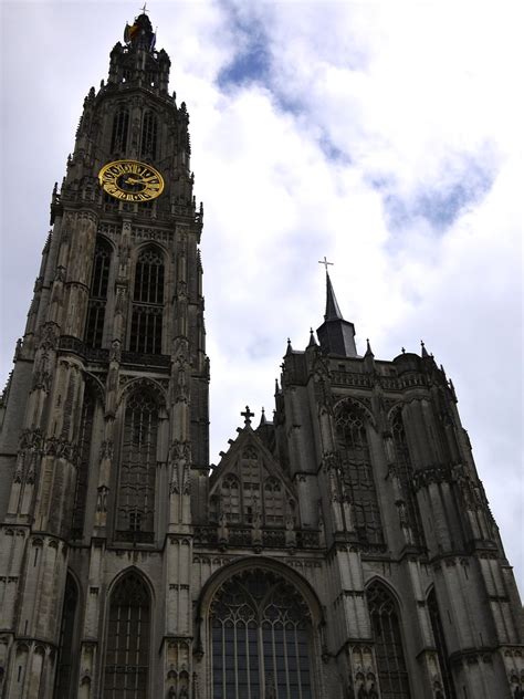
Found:
<path fill-rule="evenodd" d="M 91 274 L 91 292 L 87 305 L 87 322 L 84 341 L 90 347 L 102 347 L 104 335 L 105 306 L 111 269 L 111 244 L 98 238 L 96 240 L 93 272 Z"/>

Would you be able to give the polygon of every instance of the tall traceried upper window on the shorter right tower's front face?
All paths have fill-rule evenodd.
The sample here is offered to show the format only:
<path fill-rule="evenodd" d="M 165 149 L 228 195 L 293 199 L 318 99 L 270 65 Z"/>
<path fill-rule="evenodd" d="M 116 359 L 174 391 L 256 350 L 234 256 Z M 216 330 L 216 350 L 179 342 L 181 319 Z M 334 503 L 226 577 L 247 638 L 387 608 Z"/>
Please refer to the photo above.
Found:
<path fill-rule="evenodd" d="M 344 408 L 336 426 L 344 482 L 352 497 L 358 538 L 363 543 L 381 544 L 382 525 L 364 413 L 354 406 Z"/>

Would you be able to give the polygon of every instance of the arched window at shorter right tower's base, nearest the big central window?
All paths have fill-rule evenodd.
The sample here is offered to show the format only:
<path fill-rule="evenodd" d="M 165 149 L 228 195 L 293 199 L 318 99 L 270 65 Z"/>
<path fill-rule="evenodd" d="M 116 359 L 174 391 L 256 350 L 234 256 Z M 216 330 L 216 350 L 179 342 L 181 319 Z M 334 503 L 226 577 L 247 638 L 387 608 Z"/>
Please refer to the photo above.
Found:
<path fill-rule="evenodd" d="M 409 678 L 397 605 L 380 583 L 366 591 L 382 699 L 409 699 Z"/>

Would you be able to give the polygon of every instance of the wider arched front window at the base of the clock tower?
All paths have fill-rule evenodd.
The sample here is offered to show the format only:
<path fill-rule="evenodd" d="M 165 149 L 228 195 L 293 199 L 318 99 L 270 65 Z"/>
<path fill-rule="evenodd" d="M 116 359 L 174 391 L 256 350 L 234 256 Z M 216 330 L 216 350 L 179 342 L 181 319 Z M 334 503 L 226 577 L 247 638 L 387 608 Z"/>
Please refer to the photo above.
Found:
<path fill-rule="evenodd" d="M 150 597 L 143 580 L 128 573 L 109 601 L 103 699 L 147 699 Z"/>

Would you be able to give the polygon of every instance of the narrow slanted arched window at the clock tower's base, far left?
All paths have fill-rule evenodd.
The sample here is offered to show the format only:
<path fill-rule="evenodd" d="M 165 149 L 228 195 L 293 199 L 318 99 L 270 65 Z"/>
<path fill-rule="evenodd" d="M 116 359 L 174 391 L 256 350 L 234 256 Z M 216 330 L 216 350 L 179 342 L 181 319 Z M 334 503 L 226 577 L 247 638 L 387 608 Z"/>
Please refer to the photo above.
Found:
<path fill-rule="evenodd" d="M 62 608 L 62 623 L 60 626 L 59 661 L 56 664 L 56 679 L 54 696 L 57 699 L 71 697 L 73 693 L 73 676 L 75 671 L 75 658 L 78 656 L 75 648 L 75 622 L 78 605 L 78 590 L 72 575 L 67 573 L 65 578 L 64 606 Z"/>

